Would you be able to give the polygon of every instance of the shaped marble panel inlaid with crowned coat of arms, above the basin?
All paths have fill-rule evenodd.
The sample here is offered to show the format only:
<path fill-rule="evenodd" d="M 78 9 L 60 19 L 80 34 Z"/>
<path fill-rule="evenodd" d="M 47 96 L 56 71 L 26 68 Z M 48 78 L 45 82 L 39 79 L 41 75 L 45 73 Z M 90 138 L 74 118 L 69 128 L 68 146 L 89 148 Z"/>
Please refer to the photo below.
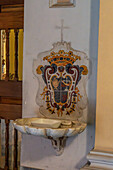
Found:
<path fill-rule="evenodd" d="M 57 42 L 33 62 L 39 88 L 36 102 L 44 117 L 78 120 L 87 107 L 89 60 L 71 43 Z"/>

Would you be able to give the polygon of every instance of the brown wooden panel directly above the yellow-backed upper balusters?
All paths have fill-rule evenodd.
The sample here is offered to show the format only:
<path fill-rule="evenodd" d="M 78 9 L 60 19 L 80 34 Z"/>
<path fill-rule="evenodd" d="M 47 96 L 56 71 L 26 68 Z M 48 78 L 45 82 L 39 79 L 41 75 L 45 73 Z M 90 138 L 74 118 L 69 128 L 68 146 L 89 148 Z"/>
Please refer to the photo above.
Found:
<path fill-rule="evenodd" d="M 24 12 L 0 13 L 0 29 L 23 28 Z"/>

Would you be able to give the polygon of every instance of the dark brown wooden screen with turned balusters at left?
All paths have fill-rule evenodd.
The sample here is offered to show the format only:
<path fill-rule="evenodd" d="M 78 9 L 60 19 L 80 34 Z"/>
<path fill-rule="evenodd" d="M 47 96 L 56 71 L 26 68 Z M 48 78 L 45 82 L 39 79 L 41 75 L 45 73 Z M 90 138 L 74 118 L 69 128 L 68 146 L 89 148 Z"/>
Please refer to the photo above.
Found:
<path fill-rule="evenodd" d="M 17 4 L 24 4 L 23 0 L 1 0 L 0 1 L 0 30 L 6 32 L 6 77 L 5 80 L 0 80 L 0 118 L 5 119 L 5 170 L 9 169 L 9 123 L 10 120 L 15 120 L 22 117 L 22 81 L 18 81 L 18 33 L 19 29 L 23 29 L 24 11 L 18 10 Z M 4 5 L 9 5 L 8 8 L 3 8 Z M 13 11 L 11 11 L 11 5 Z M 19 6 L 20 7 L 20 6 Z M 3 9 L 3 12 L 2 12 Z M 4 9 L 6 12 L 4 12 Z M 10 47 L 10 30 L 15 32 L 15 75 L 14 80 L 9 79 L 9 47 Z M 17 170 L 17 131 L 14 130 L 14 170 Z M 0 168 L 1 170 L 2 168 Z"/>

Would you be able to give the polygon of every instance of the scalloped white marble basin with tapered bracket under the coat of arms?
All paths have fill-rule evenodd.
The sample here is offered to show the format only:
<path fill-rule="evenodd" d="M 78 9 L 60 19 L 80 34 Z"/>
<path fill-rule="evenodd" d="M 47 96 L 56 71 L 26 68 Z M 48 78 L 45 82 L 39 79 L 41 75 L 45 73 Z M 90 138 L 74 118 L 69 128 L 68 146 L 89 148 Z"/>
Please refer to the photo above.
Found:
<path fill-rule="evenodd" d="M 13 121 L 13 125 L 21 133 L 50 139 L 57 155 L 62 154 L 68 137 L 83 132 L 87 126 L 79 121 L 46 118 L 17 119 Z"/>

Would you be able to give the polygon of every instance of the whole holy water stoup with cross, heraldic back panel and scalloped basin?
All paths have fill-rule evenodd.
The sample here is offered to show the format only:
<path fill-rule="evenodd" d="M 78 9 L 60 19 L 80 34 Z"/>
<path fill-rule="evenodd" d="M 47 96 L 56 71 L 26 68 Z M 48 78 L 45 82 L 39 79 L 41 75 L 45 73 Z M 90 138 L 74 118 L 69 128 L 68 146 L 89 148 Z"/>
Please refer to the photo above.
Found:
<path fill-rule="evenodd" d="M 56 28 L 61 30 L 61 41 L 54 43 L 51 50 L 38 54 L 33 62 L 39 82 L 37 117 L 16 120 L 14 127 L 21 133 L 50 139 L 56 155 L 60 156 L 66 139 L 82 133 L 87 126 L 84 122 L 89 60 L 84 52 L 74 50 L 70 42 L 63 40 L 63 31 L 68 28 L 63 20 L 61 27 Z"/>

